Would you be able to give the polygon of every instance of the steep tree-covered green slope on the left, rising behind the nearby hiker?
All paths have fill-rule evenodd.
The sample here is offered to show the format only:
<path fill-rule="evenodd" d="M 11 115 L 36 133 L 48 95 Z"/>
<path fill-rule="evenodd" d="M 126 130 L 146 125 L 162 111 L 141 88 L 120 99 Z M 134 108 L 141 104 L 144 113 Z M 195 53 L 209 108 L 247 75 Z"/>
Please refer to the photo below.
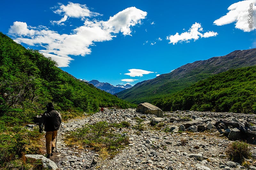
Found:
<path fill-rule="evenodd" d="M 96 111 L 99 106 L 127 107 L 128 102 L 80 81 L 55 61 L 28 50 L 0 33 L 0 116 L 48 101 L 62 111 Z"/>

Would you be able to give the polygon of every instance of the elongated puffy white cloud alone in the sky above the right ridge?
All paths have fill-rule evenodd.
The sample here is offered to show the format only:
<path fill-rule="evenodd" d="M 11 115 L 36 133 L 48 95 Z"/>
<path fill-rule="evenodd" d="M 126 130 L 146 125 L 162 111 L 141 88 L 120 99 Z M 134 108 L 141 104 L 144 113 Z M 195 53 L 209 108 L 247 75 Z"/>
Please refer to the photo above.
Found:
<path fill-rule="evenodd" d="M 188 32 L 184 32 L 184 33 L 176 33 L 175 35 L 170 35 L 167 36 L 166 39 L 170 40 L 169 43 L 172 43 L 173 45 L 176 44 L 177 42 L 189 42 L 190 40 L 194 39 L 194 41 L 198 40 L 199 37 L 204 37 L 204 38 L 208 38 L 208 37 L 212 37 L 212 36 L 216 36 L 218 35 L 218 33 L 213 32 L 213 31 L 208 31 L 206 33 L 201 33 L 203 32 L 203 27 L 201 26 L 200 23 L 195 23 L 193 24 Z"/>

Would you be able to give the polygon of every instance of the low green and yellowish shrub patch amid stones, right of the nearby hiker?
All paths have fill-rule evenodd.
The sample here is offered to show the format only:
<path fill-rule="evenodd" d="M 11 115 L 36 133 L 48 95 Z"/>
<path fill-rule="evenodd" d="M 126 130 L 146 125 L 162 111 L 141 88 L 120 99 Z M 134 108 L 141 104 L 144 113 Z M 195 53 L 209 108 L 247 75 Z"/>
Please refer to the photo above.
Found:
<path fill-rule="evenodd" d="M 126 124 L 126 123 L 124 123 Z M 98 152 L 102 158 L 107 158 L 129 144 L 129 138 L 120 134 L 112 133 L 111 127 L 124 127 L 123 123 L 118 126 L 107 122 L 97 122 L 93 125 L 85 125 L 84 128 L 68 134 L 65 138 L 69 146 L 89 145 Z"/>

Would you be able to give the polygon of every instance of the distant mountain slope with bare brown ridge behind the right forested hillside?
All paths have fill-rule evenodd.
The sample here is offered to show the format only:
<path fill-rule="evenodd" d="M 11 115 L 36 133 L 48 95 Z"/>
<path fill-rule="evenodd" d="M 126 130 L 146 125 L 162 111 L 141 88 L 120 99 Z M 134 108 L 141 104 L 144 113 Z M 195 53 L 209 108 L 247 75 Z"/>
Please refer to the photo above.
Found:
<path fill-rule="evenodd" d="M 117 95 L 121 99 L 137 104 L 152 102 L 214 74 L 253 65 L 256 65 L 256 48 L 236 50 L 228 55 L 188 63 L 171 73 L 137 83 L 132 88 L 119 92 Z"/>

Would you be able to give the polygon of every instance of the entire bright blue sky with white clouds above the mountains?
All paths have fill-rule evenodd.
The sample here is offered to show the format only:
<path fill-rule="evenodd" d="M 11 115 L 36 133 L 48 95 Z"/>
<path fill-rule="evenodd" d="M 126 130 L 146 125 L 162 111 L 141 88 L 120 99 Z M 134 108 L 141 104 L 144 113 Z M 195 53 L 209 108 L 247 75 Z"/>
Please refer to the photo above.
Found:
<path fill-rule="evenodd" d="M 256 0 L 1 2 L 0 31 L 76 78 L 134 85 L 256 48 Z"/>

